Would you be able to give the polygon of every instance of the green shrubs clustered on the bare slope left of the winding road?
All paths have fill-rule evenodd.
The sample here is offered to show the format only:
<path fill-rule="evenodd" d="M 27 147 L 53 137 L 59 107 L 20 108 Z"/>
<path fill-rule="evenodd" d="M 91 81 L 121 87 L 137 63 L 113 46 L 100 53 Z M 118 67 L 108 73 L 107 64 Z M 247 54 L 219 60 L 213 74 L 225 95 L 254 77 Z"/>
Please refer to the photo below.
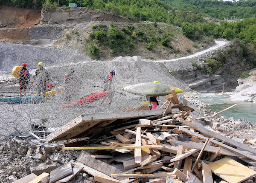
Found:
<path fill-rule="evenodd" d="M 91 41 L 101 49 L 105 49 L 103 48 L 105 46 L 111 48 L 110 53 L 113 55 L 131 53 L 137 42 L 145 42 L 145 48 L 148 50 L 152 50 L 157 45 L 170 49 L 174 35 L 173 29 L 163 29 L 162 25 L 155 26 L 154 23 L 140 23 L 138 28 L 132 24 L 118 27 L 112 23 L 110 28 L 103 25 L 92 25 L 88 42 Z M 88 50 L 89 48 L 92 49 L 92 46 L 87 47 Z M 91 55 L 92 53 L 94 52 L 90 51 Z"/>

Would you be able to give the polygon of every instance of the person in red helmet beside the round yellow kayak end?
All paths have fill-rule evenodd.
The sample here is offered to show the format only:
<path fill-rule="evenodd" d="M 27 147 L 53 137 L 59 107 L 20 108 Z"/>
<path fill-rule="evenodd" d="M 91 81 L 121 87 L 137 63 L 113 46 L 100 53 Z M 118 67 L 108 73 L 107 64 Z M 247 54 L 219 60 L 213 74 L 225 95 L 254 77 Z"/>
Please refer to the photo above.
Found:
<path fill-rule="evenodd" d="M 22 63 L 22 69 L 20 70 L 19 76 L 19 84 L 20 84 L 20 96 L 22 96 L 21 92 L 24 90 L 24 94 L 26 93 L 26 88 L 29 84 L 30 74 L 29 70 L 26 68 L 27 64 Z"/>

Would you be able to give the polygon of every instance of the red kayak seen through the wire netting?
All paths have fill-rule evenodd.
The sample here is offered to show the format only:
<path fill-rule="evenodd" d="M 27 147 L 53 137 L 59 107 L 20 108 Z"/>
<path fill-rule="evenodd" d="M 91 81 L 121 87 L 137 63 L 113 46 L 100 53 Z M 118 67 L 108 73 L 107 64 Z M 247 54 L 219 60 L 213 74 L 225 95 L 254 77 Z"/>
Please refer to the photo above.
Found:
<path fill-rule="evenodd" d="M 78 101 L 70 102 L 61 107 L 70 107 L 70 106 L 78 106 L 78 105 L 88 104 L 88 103 L 91 103 L 91 102 L 94 102 L 94 101 L 104 98 L 109 93 L 110 93 L 110 91 L 91 93 L 90 96 L 83 97 Z"/>

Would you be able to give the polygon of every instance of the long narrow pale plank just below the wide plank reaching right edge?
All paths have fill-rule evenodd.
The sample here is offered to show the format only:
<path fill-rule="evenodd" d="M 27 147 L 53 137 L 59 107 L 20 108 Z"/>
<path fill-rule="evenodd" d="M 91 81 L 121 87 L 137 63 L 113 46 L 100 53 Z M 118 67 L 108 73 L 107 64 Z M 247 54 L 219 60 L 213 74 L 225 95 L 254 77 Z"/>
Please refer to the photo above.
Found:
<path fill-rule="evenodd" d="M 189 134 L 189 135 L 193 135 L 193 136 L 195 136 L 195 137 L 198 137 L 198 138 L 201 138 L 201 139 L 204 139 L 204 140 L 207 139 L 204 135 L 201 135 L 201 134 L 198 134 L 198 133 L 189 131 L 189 130 L 187 130 L 187 129 L 185 129 L 185 128 L 182 128 L 182 127 L 180 127 L 180 131 L 186 132 L 186 133 Z M 235 152 L 235 153 L 238 154 L 238 155 L 241 155 L 241 156 L 243 156 L 243 157 L 249 158 L 249 159 L 251 159 L 251 160 L 256 160 L 256 156 L 254 156 L 254 155 L 248 154 L 248 153 L 246 153 L 246 152 L 244 152 L 244 151 L 241 152 L 241 151 L 239 151 L 238 149 L 235 149 L 235 148 L 233 148 L 233 147 L 227 146 L 226 144 L 222 144 L 221 142 L 215 141 L 215 140 L 213 140 L 213 139 L 209 139 L 209 141 L 212 142 L 213 144 L 216 144 L 216 145 L 218 145 L 218 146 L 221 146 L 221 147 L 223 147 L 223 148 L 225 148 L 225 149 L 229 149 L 230 151 Z M 241 144 L 241 143 L 240 143 L 240 144 Z"/>

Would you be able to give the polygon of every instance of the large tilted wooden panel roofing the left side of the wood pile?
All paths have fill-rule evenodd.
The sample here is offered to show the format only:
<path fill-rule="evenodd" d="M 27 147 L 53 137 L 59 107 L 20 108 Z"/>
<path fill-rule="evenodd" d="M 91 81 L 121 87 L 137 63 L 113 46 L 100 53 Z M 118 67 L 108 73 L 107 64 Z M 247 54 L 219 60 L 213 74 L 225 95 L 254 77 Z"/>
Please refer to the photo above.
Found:
<path fill-rule="evenodd" d="M 84 137 L 84 134 L 90 131 L 90 128 L 100 125 L 105 127 L 113 121 L 130 119 L 130 118 L 145 118 L 151 115 L 163 115 L 164 110 L 145 110 L 119 113 L 105 113 L 105 114 L 89 114 L 80 115 L 74 120 L 67 123 L 65 126 L 58 128 L 54 132 L 47 135 L 47 142 L 67 140 L 70 138 Z M 93 133 L 93 130 L 92 132 Z"/>

